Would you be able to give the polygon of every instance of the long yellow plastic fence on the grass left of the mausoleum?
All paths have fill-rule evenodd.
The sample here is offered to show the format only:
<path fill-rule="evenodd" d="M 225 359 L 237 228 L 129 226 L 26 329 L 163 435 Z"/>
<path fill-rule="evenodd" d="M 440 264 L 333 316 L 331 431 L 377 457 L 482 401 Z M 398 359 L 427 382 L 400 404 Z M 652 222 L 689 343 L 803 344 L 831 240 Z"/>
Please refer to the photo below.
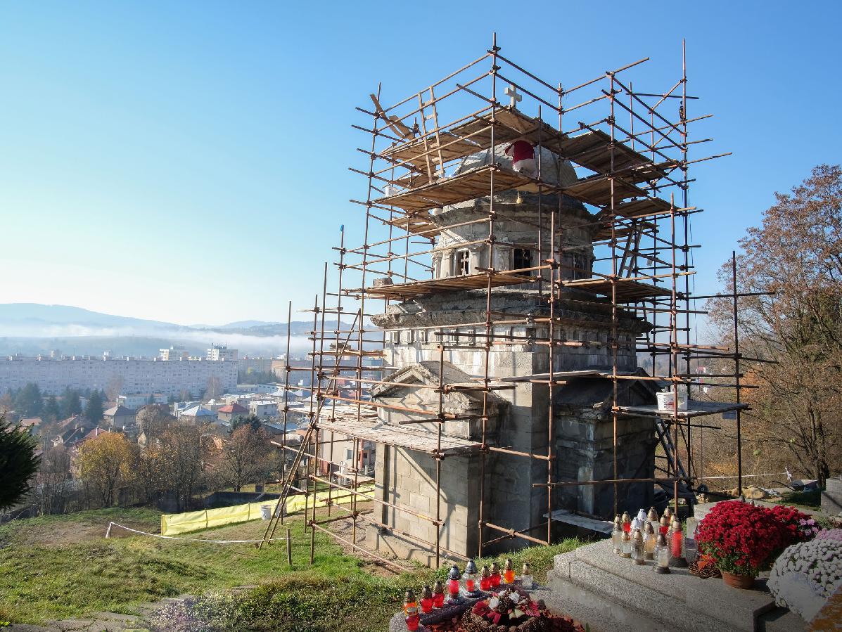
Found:
<path fill-rule="evenodd" d="M 370 493 L 374 491 L 373 485 L 360 486 L 358 491 Z M 346 505 L 354 497 L 348 491 L 333 490 L 331 502 L 339 505 Z M 312 498 L 309 502 L 312 502 Z M 203 528 L 219 527 L 223 524 L 244 523 L 248 520 L 260 518 L 260 507 L 269 505 L 274 512 L 277 500 L 266 502 L 249 502 L 245 505 L 234 505 L 232 507 L 219 507 L 218 509 L 202 509 L 199 512 L 186 513 L 163 513 L 161 514 L 161 534 L 178 535 L 190 531 L 198 531 Z M 328 504 L 328 491 L 319 491 L 316 494 L 316 507 L 325 507 Z M 310 505 L 312 507 L 312 505 Z M 286 499 L 286 513 L 296 513 L 304 510 L 304 495 L 297 494 Z"/>

